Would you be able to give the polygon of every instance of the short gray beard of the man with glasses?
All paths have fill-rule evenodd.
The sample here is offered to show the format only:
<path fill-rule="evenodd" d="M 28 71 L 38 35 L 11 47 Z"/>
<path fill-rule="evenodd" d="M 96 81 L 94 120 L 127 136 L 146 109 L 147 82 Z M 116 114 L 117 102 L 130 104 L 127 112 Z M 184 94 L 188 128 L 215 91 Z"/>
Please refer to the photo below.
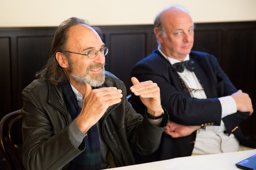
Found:
<path fill-rule="evenodd" d="M 87 68 L 86 74 L 84 74 L 82 76 L 74 74 L 73 67 L 71 67 L 68 71 L 69 71 L 70 77 L 73 78 L 75 81 L 82 83 L 82 84 L 88 83 L 92 87 L 98 87 L 98 86 L 101 86 L 105 81 L 105 67 L 104 67 L 105 64 L 103 64 L 103 65 L 100 64 L 100 65 L 101 65 L 101 70 L 102 70 L 101 73 L 98 75 L 94 75 L 93 77 L 91 77 L 88 74 L 88 72 L 91 68 L 93 68 L 95 66 L 89 66 Z M 96 66 L 96 67 L 98 67 L 98 66 Z"/>

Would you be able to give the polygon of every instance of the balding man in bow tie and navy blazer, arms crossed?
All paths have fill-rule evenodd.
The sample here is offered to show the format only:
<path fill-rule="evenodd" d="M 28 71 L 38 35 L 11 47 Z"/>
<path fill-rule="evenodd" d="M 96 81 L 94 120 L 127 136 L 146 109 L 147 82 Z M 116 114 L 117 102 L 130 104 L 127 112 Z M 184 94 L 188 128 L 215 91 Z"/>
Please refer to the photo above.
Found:
<path fill-rule="evenodd" d="M 135 154 L 137 163 L 256 148 L 239 126 L 253 112 L 251 99 L 233 86 L 215 56 L 191 51 L 194 22 L 189 13 L 178 6 L 167 7 L 154 26 L 158 49 L 133 67 L 132 76 L 158 84 L 170 119 L 160 148 L 150 156 Z M 131 103 L 143 113 L 138 97 L 132 96 Z M 174 124 L 201 128 L 176 135 Z"/>

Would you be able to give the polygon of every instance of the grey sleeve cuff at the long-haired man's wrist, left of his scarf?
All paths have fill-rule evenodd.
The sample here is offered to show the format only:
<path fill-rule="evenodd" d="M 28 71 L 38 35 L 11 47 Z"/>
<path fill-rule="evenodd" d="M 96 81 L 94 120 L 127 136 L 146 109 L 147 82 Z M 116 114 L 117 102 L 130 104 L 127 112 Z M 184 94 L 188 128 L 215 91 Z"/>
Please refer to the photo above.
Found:
<path fill-rule="evenodd" d="M 78 148 L 82 143 L 83 138 L 86 136 L 87 133 L 84 134 L 82 131 L 80 131 L 76 124 L 76 119 L 74 119 L 73 122 L 69 125 L 69 137 L 71 143 Z"/>

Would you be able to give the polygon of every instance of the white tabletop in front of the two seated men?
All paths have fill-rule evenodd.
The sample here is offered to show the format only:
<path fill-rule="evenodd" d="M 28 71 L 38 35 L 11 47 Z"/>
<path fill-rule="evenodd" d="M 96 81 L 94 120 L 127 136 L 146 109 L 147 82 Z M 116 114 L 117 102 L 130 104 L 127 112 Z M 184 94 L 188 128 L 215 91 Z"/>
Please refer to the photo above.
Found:
<path fill-rule="evenodd" d="M 188 156 L 174 158 L 164 161 L 143 163 L 138 165 L 116 167 L 113 170 L 187 170 L 187 169 L 214 169 L 214 170 L 232 170 L 240 169 L 236 163 L 256 154 L 256 149 L 251 151 L 230 152 L 224 154 L 211 154 L 200 156 Z M 241 169 L 240 169 L 241 170 Z"/>

